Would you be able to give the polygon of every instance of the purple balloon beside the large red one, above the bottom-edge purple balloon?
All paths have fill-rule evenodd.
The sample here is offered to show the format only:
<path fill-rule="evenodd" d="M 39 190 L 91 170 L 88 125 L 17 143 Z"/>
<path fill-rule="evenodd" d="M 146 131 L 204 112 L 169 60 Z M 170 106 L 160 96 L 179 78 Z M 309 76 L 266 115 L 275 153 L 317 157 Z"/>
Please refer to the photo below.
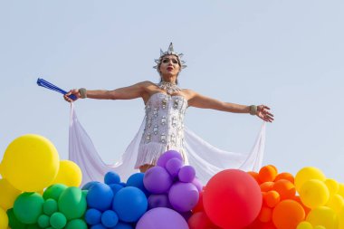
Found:
<path fill-rule="evenodd" d="M 197 205 L 199 193 L 193 184 L 177 182 L 169 189 L 168 199 L 176 211 L 183 213 Z"/>

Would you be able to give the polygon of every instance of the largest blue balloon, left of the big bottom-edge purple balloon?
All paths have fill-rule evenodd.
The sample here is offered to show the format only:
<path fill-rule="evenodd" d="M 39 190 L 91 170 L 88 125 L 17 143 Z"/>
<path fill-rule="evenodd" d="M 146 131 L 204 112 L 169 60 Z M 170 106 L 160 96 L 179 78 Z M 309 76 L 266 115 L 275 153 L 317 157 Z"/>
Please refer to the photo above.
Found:
<path fill-rule="evenodd" d="M 119 219 L 126 223 L 137 222 L 145 214 L 147 207 L 146 195 L 135 186 L 120 189 L 112 204 L 112 209 L 119 215 Z"/>

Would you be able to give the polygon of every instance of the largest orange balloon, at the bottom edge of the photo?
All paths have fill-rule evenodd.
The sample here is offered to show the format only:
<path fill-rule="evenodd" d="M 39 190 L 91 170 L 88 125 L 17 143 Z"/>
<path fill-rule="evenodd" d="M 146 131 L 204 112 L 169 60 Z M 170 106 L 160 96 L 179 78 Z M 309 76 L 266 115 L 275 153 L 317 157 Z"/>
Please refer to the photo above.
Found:
<path fill-rule="evenodd" d="M 304 218 L 303 207 L 294 200 L 283 200 L 272 211 L 272 222 L 279 229 L 295 229 Z"/>

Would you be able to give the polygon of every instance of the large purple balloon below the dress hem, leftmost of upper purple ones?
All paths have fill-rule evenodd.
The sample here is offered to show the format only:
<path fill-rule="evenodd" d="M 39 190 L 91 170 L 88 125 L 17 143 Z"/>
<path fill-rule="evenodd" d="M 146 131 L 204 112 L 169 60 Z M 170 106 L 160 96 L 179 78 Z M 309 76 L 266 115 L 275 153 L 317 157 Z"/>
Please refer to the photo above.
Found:
<path fill-rule="evenodd" d="M 143 184 L 152 194 L 167 193 L 172 186 L 172 177 L 164 167 L 151 167 L 143 177 Z"/>

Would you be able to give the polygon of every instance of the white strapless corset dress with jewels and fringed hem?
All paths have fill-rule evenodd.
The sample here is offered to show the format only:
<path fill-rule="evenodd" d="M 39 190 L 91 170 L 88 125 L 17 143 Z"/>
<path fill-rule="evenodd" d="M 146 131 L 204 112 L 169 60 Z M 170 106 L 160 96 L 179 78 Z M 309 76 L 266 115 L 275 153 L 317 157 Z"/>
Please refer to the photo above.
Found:
<path fill-rule="evenodd" d="M 158 92 L 146 103 L 146 124 L 135 167 L 154 165 L 168 149 L 184 153 L 184 115 L 187 100 L 180 95 Z"/>

